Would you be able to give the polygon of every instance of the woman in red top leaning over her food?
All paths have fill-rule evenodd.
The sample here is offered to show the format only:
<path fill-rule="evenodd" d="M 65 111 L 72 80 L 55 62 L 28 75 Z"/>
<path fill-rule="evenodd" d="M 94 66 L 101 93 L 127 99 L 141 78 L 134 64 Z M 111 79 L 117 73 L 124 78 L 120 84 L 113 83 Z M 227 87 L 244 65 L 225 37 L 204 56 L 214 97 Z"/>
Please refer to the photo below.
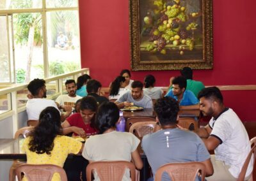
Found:
<path fill-rule="evenodd" d="M 81 99 L 80 113 L 70 115 L 62 124 L 63 134 L 74 133 L 75 136 L 82 137 L 97 134 L 95 128 L 95 113 L 98 104 L 92 96 L 86 96 Z"/>

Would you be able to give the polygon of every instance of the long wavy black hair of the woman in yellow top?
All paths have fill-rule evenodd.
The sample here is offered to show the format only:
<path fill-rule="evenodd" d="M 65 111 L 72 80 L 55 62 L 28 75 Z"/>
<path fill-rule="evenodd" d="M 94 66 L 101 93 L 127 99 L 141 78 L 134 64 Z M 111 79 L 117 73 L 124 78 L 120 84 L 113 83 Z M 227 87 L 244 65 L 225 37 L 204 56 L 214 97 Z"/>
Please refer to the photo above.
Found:
<path fill-rule="evenodd" d="M 29 150 L 36 154 L 51 154 L 54 147 L 54 138 L 62 134 L 60 112 L 49 106 L 42 110 L 38 125 L 29 134 Z"/>

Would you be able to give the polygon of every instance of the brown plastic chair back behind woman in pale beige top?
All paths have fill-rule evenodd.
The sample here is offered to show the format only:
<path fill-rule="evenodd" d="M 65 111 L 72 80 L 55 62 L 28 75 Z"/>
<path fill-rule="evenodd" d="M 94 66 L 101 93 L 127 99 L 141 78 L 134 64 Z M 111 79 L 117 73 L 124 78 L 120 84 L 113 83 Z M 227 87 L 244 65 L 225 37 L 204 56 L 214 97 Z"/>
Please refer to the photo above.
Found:
<path fill-rule="evenodd" d="M 125 170 L 131 172 L 131 180 L 135 180 L 135 166 L 128 161 L 96 161 L 88 164 L 86 168 L 87 181 L 92 180 L 92 170 L 97 172 L 100 181 L 121 181 Z"/>

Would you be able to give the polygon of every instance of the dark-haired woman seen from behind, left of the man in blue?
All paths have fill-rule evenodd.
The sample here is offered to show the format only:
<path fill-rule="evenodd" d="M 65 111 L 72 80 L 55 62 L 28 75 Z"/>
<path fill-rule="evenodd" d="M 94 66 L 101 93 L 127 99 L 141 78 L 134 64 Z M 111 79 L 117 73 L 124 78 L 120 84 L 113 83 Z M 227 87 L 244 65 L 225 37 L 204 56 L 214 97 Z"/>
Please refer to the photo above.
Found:
<path fill-rule="evenodd" d="M 153 75 L 147 75 L 144 78 L 145 88 L 143 93 L 150 96 L 151 99 L 163 98 L 163 90 L 158 87 L 154 87 L 156 79 Z"/>

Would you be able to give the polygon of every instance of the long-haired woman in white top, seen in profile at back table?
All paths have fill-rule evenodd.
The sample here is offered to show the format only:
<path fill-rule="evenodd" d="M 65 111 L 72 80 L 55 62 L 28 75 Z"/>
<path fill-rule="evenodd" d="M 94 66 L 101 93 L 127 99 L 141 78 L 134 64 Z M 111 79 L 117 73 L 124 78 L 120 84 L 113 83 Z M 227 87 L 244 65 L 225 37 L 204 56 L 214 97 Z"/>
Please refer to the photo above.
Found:
<path fill-rule="evenodd" d="M 124 76 L 117 76 L 115 80 L 110 85 L 109 90 L 109 100 L 111 99 L 118 99 L 129 89 L 122 88 L 125 82 Z"/>

